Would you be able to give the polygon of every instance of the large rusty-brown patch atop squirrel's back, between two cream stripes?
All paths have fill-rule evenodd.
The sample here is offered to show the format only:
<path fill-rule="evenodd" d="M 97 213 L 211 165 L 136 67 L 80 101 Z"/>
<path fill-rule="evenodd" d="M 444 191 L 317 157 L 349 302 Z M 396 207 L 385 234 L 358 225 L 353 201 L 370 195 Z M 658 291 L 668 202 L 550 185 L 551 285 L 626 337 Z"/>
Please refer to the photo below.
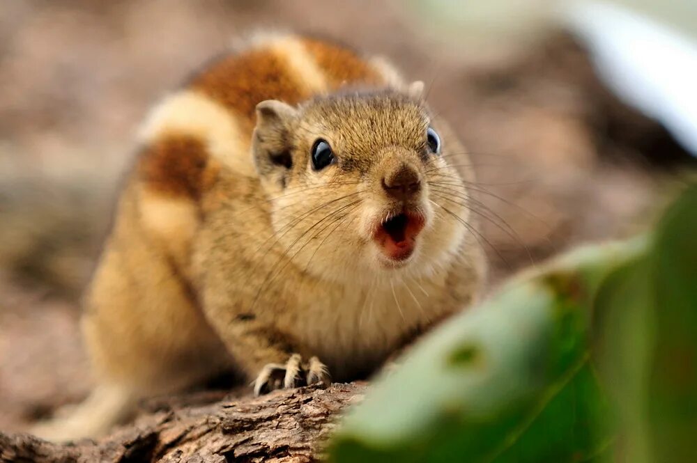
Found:
<path fill-rule="evenodd" d="M 194 77 L 190 85 L 244 118 L 250 131 L 259 102 L 298 104 L 309 97 L 293 80 L 282 58 L 268 48 L 223 58 Z"/>

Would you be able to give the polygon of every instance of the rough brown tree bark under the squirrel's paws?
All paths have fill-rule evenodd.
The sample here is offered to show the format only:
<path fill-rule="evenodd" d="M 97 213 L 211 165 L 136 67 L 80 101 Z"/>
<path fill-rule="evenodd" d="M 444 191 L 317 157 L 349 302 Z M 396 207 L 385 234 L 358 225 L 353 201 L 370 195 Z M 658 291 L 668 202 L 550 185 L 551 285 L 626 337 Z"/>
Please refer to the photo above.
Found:
<path fill-rule="evenodd" d="M 340 411 L 365 384 L 276 391 L 210 405 L 159 404 L 160 411 L 102 441 L 52 444 L 0 433 L 2 462 L 312 462 Z"/>

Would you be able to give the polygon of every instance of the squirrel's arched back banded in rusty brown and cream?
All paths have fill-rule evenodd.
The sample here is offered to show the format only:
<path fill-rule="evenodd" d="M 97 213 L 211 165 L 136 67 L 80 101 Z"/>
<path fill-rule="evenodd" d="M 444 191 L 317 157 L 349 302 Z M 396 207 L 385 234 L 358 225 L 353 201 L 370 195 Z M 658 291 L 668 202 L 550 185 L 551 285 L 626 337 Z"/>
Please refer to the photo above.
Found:
<path fill-rule="evenodd" d="M 256 178 L 250 156 L 256 104 L 295 105 L 344 86 L 401 85 L 383 58 L 335 42 L 271 33 L 246 40 L 194 73 L 141 127 L 130 188 L 144 230 L 186 274 L 201 198 L 220 169 Z"/>

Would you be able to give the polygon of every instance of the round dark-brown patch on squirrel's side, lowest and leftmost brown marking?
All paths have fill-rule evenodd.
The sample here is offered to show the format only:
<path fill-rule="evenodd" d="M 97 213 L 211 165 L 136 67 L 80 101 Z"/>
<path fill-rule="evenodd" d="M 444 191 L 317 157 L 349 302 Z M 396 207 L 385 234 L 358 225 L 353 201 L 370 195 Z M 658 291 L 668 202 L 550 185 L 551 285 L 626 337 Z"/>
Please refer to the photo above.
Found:
<path fill-rule="evenodd" d="M 208 168 L 207 168 L 208 167 Z M 154 191 L 198 201 L 211 183 L 204 142 L 187 135 L 168 135 L 144 148 L 138 160 L 139 178 Z"/>

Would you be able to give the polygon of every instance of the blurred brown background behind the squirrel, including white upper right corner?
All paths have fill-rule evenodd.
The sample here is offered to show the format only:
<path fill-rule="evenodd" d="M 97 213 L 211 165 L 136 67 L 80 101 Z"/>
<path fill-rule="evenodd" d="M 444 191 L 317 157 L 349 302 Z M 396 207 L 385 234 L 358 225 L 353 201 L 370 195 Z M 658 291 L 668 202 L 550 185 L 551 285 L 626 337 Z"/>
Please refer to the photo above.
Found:
<path fill-rule="evenodd" d="M 0 430 L 89 389 L 79 295 L 148 107 L 256 29 L 426 83 L 478 175 L 491 285 L 650 223 L 697 153 L 691 0 L 0 3 Z"/>

